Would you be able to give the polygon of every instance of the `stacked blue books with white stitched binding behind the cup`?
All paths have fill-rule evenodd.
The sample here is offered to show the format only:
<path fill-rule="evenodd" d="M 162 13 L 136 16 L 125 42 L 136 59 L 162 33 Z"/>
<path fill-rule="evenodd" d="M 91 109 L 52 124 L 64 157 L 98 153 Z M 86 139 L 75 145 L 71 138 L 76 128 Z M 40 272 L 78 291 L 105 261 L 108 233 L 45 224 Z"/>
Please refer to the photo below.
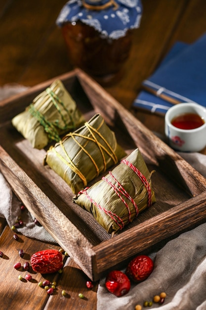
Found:
<path fill-rule="evenodd" d="M 155 94 L 141 91 L 132 104 L 135 108 L 165 114 L 173 100 L 206 106 L 206 34 L 191 45 L 177 42 L 142 86 Z"/>

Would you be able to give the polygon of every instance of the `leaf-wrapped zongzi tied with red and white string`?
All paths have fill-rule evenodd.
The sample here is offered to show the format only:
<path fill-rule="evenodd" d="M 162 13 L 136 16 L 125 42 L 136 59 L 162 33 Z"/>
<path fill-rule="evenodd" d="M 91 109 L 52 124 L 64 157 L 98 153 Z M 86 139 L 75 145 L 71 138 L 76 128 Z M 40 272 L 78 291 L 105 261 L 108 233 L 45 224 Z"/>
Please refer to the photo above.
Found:
<path fill-rule="evenodd" d="M 156 201 L 153 172 L 136 149 L 100 181 L 80 191 L 73 202 L 91 212 L 108 233 L 115 234 Z"/>

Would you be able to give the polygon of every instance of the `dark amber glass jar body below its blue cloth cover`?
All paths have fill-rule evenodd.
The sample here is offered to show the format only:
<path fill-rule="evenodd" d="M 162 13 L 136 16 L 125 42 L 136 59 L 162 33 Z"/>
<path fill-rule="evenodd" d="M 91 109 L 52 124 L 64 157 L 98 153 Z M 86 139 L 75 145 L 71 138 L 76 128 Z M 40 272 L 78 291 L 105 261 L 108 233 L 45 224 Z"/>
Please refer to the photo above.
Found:
<path fill-rule="evenodd" d="M 69 59 L 100 84 L 112 84 L 121 79 L 124 63 L 132 45 L 131 30 L 118 39 L 103 37 L 93 27 L 66 22 L 61 28 Z"/>

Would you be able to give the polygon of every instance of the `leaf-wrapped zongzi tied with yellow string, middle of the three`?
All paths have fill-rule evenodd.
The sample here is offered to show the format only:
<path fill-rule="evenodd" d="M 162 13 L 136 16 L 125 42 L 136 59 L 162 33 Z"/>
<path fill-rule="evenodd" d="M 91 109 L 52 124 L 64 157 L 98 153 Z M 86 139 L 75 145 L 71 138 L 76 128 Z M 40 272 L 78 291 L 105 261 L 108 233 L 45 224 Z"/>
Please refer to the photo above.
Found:
<path fill-rule="evenodd" d="M 100 173 L 125 156 L 115 133 L 100 114 L 84 126 L 67 134 L 47 151 L 47 163 L 77 194 Z"/>

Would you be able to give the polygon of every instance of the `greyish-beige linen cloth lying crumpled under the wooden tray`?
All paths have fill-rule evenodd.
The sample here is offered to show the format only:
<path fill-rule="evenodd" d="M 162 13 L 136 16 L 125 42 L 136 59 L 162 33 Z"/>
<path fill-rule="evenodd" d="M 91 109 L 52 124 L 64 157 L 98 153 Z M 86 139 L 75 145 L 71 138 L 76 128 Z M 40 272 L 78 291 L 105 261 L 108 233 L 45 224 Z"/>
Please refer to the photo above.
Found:
<path fill-rule="evenodd" d="M 0 88 L 1 99 L 25 90 L 14 86 L 10 92 L 7 86 L 5 88 Z M 179 154 L 206 177 L 206 155 Z M 4 217 L 11 227 L 21 215 L 24 225 L 18 228 L 19 232 L 30 238 L 56 243 L 43 227 L 35 225 L 32 214 L 27 210 L 20 212 L 20 206 L 21 202 L 0 173 L 0 217 Z M 154 271 L 144 282 L 132 284 L 129 293 L 123 297 L 109 293 L 105 288 L 105 278 L 100 280 L 97 310 L 134 310 L 135 305 L 152 301 L 161 292 L 167 294 L 163 305 L 153 303 L 152 307 L 143 309 L 206 310 L 206 223 L 166 244 L 163 242 L 162 247 L 149 256 L 154 260 Z"/>

